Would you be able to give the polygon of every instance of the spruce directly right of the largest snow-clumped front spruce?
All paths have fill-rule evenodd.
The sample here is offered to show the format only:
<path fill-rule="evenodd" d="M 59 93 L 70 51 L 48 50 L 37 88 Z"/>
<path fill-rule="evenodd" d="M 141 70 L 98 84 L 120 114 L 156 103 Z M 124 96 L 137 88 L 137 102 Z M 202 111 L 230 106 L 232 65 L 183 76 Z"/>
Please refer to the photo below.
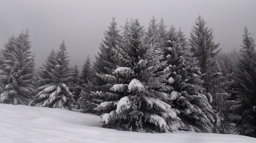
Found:
<path fill-rule="evenodd" d="M 173 36 L 177 43 L 169 40 L 163 49 L 164 60 L 167 61 L 164 71 L 170 73 L 166 84 L 172 89 L 167 93 L 172 99 L 170 105 L 179 110 L 178 117 L 187 125 L 186 129 L 212 132 L 216 114 L 204 95 L 200 68 L 197 67 L 196 59 L 191 58 L 181 30 L 176 32 L 174 28 L 171 29 L 168 37 Z"/>

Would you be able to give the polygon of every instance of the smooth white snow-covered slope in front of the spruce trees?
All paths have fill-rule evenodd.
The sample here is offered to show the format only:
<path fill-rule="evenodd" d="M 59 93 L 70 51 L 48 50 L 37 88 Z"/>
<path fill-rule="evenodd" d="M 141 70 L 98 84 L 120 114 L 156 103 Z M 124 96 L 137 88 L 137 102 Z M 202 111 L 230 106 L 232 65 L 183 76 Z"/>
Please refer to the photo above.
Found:
<path fill-rule="evenodd" d="M 0 142 L 256 142 L 212 133 L 138 133 L 100 127 L 95 115 L 57 108 L 0 104 Z"/>

